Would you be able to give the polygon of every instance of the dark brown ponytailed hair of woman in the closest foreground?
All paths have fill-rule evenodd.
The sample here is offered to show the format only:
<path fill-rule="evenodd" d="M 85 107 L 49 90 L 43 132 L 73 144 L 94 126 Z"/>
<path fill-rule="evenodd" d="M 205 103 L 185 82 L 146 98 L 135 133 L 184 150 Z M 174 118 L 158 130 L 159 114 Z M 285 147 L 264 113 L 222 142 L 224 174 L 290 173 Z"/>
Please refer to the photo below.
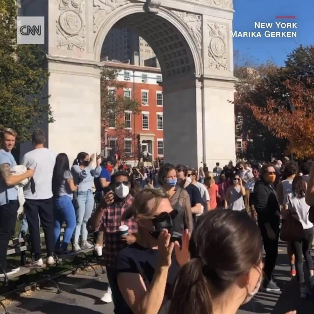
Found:
<path fill-rule="evenodd" d="M 169 314 L 213 313 L 213 299 L 259 266 L 261 233 L 247 214 L 215 209 L 199 217 L 189 251 L 191 260 L 179 271 Z"/>

